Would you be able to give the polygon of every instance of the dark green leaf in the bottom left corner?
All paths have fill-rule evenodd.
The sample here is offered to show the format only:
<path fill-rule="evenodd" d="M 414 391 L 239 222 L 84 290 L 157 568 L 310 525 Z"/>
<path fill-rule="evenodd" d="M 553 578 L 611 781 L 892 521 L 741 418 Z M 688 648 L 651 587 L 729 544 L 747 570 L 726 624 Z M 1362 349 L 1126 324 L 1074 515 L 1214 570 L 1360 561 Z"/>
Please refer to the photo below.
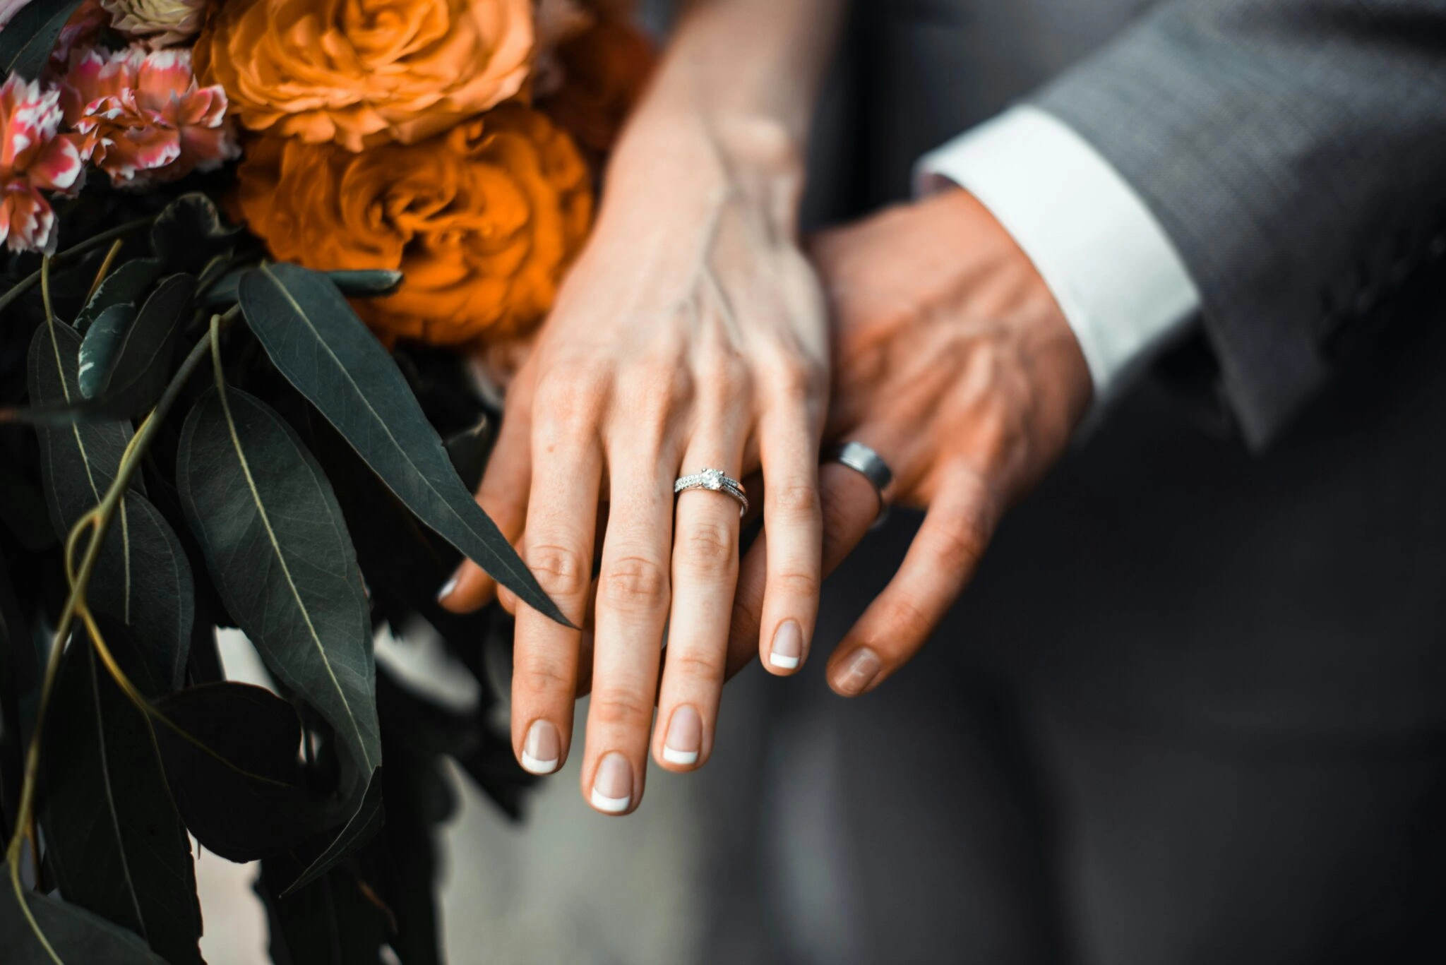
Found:
<path fill-rule="evenodd" d="M 166 965 L 132 932 L 59 898 L 26 891 L 26 907 L 49 942 L 51 949 L 46 949 L 10 887 L 10 867 L 0 865 L 0 872 L 4 874 L 0 883 L 0 952 L 4 952 L 4 965 L 55 965 L 56 958 L 62 965 Z"/>

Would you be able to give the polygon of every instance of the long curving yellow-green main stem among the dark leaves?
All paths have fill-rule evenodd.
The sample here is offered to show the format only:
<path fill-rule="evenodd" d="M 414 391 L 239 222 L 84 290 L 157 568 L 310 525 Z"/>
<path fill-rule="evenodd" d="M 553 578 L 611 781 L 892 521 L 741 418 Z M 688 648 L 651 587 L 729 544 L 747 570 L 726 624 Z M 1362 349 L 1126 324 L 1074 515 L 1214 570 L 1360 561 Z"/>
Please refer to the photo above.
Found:
<path fill-rule="evenodd" d="M 45 282 L 43 291 L 46 292 L 49 289 L 49 260 L 51 259 L 46 259 L 40 265 L 42 281 Z M 46 302 L 49 302 L 48 294 Z M 46 304 L 46 314 L 49 314 L 49 304 Z M 61 609 L 61 618 L 55 625 L 55 637 L 51 642 L 51 654 L 45 663 L 45 679 L 40 681 L 40 700 L 35 712 L 35 726 L 30 731 L 30 744 L 25 754 L 25 780 L 20 786 L 16 829 L 14 835 L 10 838 L 9 846 L 6 848 L 6 861 L 10 865 L 10 883 L 14 888 L 16 900 L 20 903 L 20 909 L 25 911 L 36 938 L 45 946 L 45 951 L 49 952 L 56 965 L 64 965 L 64 962 L 61 962 L 61 958 L 55 953 L 55 949 L 40 932 L 35 916 L 30 914 L 30 909 L 25 901 L 25 890 L 20 885 L 20 849 L 26 839 L 30 841 L 32 848 L 39 848 L 39 842 L 29 829 L 33 826 L 35 790 L 40 767 L 40 738 L 45 729 L 45 715 L 49 709 L 51 693 L 55 689 L 55 679 L 61 668 L 61 657 L 65 651 L 65 642 L 69 639 L 71 625 L 75 618 L 78 616 L 84 621 L 87 628 L 91 629 L 93 635 L 95 635 L 94 621 L 85 606 L 85 590 L 90 586 L 91 573 L 95 570 L 95 561 L 100 558 L 101 544 L 104 544 L 111 519 L 114 519 L 116 508 L 120 505 L 120 501 L 124 498 L 126 490 L 130 486 L 130 480 L 139 470 L 142 457 L 150 447 L 161 422 L 165 421 L 166 414 L 169 414 L 171 408 L 181 396 L 181 391 L 185 388 L 187 381 L 210 354 L 211 341 L 218 339 L 221 326 L 230 323 L 239 314 L 240 307 L 237 305 L 228 310 L 226 315 L 213 318 L 211 327 L 207 330 L 205 336 L 191 349 L 185 362 L 182 362 L 181 367 L 176 369 L 174 376 L 171 376 L 171 382 L 166 385 L 166 391 L 156 402 L 156 407 L 150 411 L 145 421 L 142 421 L 140 428 L 136 430 L 136 434 L 132 437 L 130 444 L 126 447 L 126 453 L 121 457 L 120 467 L 116 470 L 116 479 L 111 482 L 110 489 L 106 490 L 106 496 L 101 499 L 100 505 L 93 508 L 75 522 L 65 541 L 65 569 L 71 582 L 71 592 L 65 599 L 65 606 Z M 77 569 L 74 567 L 75 547 L 85 530 L 90 530 L 90 543 L 85 544 L 85 556 L 81 558 L 81 564 Z M 107 664 L 107 668 L 111 668 L 113 676 L 116 676 L 119 667 L 114 667 L 113 660 L 107 660 L 110 651 L 104 650 L 104 644 L 101 644 L 100 652 L 101 660 Z M 117 683 L 123 679 L 124 674 L 119 674 Z M 121 684 L 121 689 L 126 689 L 127 684 L 129 680 Z M 134 692 L 134 687 L 130 687 L 130 692 Z"/>

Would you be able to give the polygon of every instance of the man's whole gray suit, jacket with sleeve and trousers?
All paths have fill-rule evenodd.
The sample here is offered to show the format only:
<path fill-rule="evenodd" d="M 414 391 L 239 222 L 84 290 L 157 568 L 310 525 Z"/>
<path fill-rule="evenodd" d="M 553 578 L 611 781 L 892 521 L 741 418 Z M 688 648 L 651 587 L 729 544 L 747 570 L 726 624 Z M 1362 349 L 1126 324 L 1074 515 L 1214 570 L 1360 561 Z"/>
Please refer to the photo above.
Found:
<path fill-rule="evenodd" d="M 779 961 L 1446 961 L 1446 3 L 862 3 L 811 217 L 1019 100 L 1202 317 L 860 700 L 817 671 L 917 516 L 826 587 L 762 822 Z"/>

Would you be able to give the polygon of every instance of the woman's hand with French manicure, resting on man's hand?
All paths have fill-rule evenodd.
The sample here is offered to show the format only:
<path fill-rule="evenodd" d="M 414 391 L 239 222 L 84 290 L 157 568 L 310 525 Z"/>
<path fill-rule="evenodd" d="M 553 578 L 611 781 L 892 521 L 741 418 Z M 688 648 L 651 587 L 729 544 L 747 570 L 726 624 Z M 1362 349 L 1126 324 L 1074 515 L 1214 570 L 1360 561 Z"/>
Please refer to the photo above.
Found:
<path fill-rule="evenodd" d="M 583 793 L 603 812 L 638 804 L 655 697 L 661 767 L 693 770 L 711 749 L 739 503 L 709 490 L 675 501 L 678 476 L 762 470 L 761 645 L 787 667 L 813 632 L 829 373 L 823 299 L 797 246 L 800 190 L 797 142 L 777 126 L 680 113 L 632 130 L 508 399 L 479 499 L 578 625 L 602 544 Z M 490 590 L 467 564 L 444 603 L 471 609 Z M 521 608 L 512 731 L 535 773 L 568 752 L 578 655 L 580 631 Z"/>

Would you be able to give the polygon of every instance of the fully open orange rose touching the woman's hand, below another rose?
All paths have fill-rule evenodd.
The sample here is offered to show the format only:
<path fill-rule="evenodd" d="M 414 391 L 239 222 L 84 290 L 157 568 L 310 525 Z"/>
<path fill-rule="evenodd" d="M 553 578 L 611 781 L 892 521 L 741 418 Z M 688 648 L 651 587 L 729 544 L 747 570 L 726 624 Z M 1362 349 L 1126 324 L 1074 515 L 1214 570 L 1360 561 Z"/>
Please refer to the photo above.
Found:
<path fill-rule="evenodd" d="M 593 216 L 573 140 L 515 103 L 421 145 L 362 153 L 259 137 L 237 177 L 241 214 L 278 259 L 402 271 L 395 294 L 356 304 L 388 340 L 526 333 L 551 308 Z"/>

